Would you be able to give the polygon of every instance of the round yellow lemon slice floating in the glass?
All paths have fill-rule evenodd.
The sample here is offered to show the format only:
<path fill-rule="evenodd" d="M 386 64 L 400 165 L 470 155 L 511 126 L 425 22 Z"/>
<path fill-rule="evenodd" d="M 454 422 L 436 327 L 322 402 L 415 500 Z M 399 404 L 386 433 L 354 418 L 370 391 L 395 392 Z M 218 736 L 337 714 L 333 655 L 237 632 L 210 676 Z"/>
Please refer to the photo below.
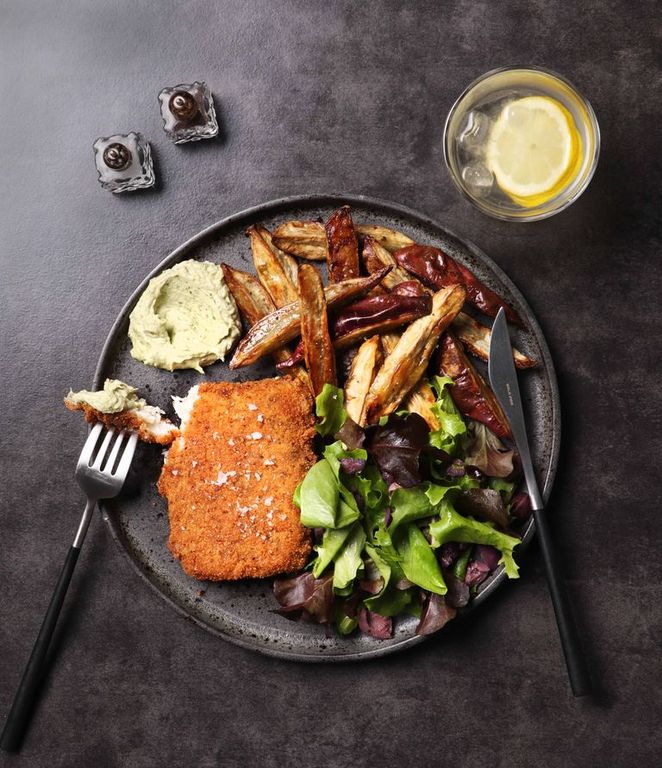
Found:
<path fill-rule="evenodd" d="M 487 141 L 486 163 L 501 189 L 523 206 L 554 197 L 577 171 L 579 135 L 558 101 L 527 96 L 506 104 Z"/>

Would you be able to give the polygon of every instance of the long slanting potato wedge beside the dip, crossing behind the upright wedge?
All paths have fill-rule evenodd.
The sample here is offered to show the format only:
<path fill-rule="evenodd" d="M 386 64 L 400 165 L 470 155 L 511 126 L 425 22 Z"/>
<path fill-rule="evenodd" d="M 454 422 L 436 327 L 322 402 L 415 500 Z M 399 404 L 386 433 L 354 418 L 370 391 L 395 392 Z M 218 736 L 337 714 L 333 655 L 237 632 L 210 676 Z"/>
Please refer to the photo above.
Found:
<path fill-rule="evenodd" d="M 324 289 L 327 305 L 341 306 L 359 296 L 365 296 L 388 274 L 388 269 L 387 267 L 370 277 L 357 277 L 342 283 L 327 285 Z M 301 312 L 298 301 L 277 309 L 259 320 L 244 336 L 230 361 L 230 368 L 251 365 L 274 349 L 292 341 L 299 335 L 300 330 Z"/>

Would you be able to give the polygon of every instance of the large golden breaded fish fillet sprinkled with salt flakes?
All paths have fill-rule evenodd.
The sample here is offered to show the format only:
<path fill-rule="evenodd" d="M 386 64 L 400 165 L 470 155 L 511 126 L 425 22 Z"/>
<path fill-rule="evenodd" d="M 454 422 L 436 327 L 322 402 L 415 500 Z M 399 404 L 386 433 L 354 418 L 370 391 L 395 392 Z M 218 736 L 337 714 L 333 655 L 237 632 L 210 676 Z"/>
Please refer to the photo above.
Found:
<path fill-rule="evenodd" d="M 182 434 L 158 488 L 184 571 L 220 581 L 300 570 L 310 535 L 292 494 L 315 462 L 306 388 L 291 378 L 208 382 L 175 408 Z"/>

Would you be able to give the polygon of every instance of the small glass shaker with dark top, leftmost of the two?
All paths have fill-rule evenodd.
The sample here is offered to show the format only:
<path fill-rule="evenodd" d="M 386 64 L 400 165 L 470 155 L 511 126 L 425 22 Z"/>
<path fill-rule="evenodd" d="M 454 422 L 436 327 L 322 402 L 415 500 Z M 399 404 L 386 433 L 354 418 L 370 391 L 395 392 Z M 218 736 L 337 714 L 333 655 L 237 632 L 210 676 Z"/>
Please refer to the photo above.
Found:
<path fill-rule="evenodd" d="M 116 133 L 94 142 L 99 183 L 111 192 L 132 192 L 154 185 L 149 142 L 140 133 Z"/>

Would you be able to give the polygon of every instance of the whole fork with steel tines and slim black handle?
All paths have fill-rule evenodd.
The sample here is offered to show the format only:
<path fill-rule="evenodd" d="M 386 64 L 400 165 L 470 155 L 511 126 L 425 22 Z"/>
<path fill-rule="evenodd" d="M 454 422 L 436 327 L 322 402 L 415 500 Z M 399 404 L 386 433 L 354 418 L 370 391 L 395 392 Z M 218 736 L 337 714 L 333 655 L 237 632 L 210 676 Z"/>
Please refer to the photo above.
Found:
<path fill-rule="evenodd" d="M 122 490 L 137 442 L 135 434 L 106 430 L 101 424 L 92 428 L 85 441 L 76 466 L 76 480 L 87 496 L 87 504 L 0 738 L 0 747 L 7 752 L 19 748 L 30 720 L 32 704 L 46 671 L 48 647 L 94 507 L 99 499 L 110 499 Z"/>

